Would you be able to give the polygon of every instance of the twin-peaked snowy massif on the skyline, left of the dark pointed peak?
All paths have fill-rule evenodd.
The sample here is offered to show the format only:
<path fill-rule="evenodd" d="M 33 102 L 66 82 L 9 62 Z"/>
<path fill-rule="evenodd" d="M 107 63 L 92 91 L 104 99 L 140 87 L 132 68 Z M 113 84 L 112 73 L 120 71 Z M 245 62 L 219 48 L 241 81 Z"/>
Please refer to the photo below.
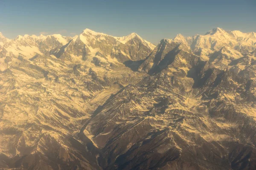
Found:
<path fill-rule="evenodd" d="M 58 51 L 56 57 L 72 59 L 74 54 L 77 57 L 81 56 L 83 60 L 87 57 L 96 57 L 102 62 L 113 59 L 125 62 L 144 59 L 154 47 L 135 33 L 126 37 L 113 37 L 85 29 L 79 36 L 73 38 L 67 47 L 65 46 L 65 50 Z"/>

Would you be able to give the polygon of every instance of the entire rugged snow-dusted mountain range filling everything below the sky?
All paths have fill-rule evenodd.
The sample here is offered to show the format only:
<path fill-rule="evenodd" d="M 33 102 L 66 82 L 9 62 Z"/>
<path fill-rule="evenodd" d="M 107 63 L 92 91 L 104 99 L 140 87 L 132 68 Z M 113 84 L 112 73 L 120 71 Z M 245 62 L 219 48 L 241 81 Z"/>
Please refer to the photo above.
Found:
<path fill-rule="evenodd" d="M 0 169 L 255 170 L 256 33 L 0 34 Z"/>

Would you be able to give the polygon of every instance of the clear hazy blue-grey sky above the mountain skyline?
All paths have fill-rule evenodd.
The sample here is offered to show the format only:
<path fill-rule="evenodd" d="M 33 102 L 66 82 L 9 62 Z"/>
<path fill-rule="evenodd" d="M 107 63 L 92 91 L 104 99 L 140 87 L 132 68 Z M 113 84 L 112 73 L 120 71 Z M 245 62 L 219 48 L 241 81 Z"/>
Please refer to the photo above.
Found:
<path fill-rule="evenodd" d="M 85 28 L 157 44 L 212 28 L 256 32 L 256 0 L 0 0 L 0 32 L 73 37 Z"/>

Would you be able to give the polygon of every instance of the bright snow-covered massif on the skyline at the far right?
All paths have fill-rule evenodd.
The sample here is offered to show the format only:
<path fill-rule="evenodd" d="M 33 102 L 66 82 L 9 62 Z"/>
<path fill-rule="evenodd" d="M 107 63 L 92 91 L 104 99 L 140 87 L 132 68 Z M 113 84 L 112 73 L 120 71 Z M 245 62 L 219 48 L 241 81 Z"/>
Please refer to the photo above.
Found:
<path fill-rule="evenodd" d="M 255 56 L 256 33 L 242 33 L 241 31 L 225 31 L 214 28 L 205 35 L 195 35 L 184 38 L 178 34 L 174 41 L 183 42 L 192 52 L 208 60 L 215 51 L 220 51 L 226 59 L 238 59 L 244 55 Z M 225 47 L 225 50 L 221 50 Z"/>

